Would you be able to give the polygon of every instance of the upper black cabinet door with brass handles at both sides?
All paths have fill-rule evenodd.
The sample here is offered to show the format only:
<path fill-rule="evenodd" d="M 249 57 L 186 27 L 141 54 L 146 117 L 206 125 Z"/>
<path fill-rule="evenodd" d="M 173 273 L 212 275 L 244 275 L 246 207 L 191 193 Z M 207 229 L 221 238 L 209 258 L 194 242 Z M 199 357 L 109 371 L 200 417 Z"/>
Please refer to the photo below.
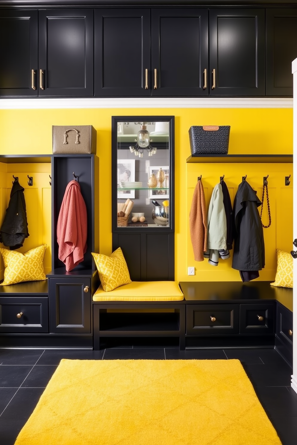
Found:
<path fill-rule="evenodd" d="M 208 96 L 207 71 L 207 8 L 152 9 L 152 96 Z"/>

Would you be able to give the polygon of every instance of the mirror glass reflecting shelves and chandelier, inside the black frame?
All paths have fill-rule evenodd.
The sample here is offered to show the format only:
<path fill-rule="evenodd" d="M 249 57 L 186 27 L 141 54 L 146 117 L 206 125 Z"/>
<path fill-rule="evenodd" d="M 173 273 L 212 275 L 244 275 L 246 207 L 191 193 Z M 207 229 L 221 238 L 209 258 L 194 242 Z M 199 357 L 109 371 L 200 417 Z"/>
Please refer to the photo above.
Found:
<path fill-rule="evenodd" d="M 117 226 L 169 227 L 170 121 L 117 122 Z"/>

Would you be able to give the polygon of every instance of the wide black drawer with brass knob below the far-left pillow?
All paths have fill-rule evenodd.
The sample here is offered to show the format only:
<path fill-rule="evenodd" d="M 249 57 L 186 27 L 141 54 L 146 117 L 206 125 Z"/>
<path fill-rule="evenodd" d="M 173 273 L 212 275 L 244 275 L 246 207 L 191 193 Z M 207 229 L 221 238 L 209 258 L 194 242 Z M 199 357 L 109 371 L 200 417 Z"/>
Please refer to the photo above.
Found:
<path fill-rule="evenodd" d="M 48 297 L 0 297 L 0 332 L 49 332 Z"/>

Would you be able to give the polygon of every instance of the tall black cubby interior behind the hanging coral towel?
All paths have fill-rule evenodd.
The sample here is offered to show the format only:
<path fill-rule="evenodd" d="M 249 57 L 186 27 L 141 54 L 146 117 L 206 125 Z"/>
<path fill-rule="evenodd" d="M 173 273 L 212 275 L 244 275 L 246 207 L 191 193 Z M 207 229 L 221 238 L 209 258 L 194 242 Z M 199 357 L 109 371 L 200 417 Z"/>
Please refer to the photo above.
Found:
<path fill-rule="evenodd" d="M 81 194 L 87 208 L 87 251 L 84 260 L 75 267 L 79 269 L 94 269 L 91 252 L 95 250 L 94 243 L 94 154 L 53 155 L 52 159 L 52 269 L 64 267 L 58 258 L 59 245 L 57 243 L 57 220 L 64 198 L 65 190 L 74 179 L 73 172 L 81 187 Z M 96 228 L 98 230 L 98 228 Z"/>

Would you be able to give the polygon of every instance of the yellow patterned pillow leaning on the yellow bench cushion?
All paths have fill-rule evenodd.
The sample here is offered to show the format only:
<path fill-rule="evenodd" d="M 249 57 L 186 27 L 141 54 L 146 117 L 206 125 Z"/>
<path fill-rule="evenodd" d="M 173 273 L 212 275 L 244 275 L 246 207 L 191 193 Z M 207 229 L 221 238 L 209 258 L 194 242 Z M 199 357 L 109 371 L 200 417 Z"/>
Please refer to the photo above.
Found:
<path fill-rule="evenodd" d="M 110 256 L 93 253 L 99 278 L 104 291 L 109 292 L 118 286 L 131 283 L 128 267 L 121 247 Z"/>

